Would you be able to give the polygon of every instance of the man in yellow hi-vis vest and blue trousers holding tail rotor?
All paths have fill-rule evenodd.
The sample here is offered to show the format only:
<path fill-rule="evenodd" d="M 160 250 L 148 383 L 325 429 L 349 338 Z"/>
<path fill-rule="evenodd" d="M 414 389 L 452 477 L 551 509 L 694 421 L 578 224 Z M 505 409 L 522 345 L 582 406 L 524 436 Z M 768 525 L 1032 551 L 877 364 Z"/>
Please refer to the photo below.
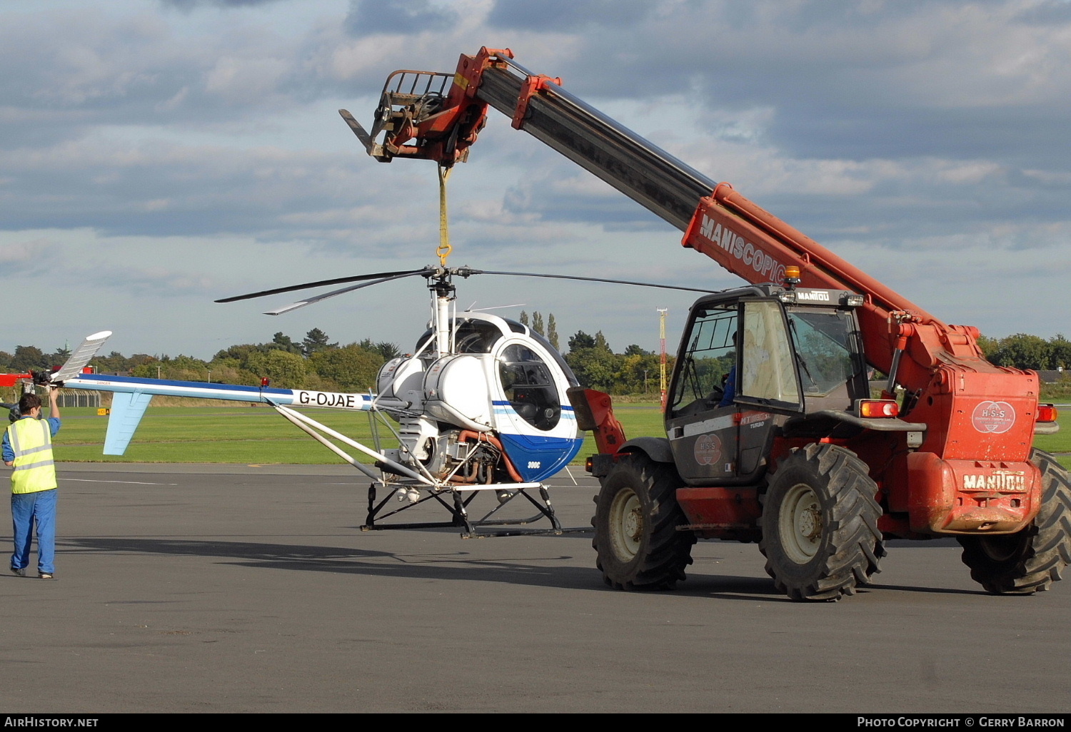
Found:
<path fill-rule="evenodd" d="M 49 390 L 51 394 L 51 390 Z M 11 519 L 15 532 L 15 553 L 11 570 L 26 577 L 30 564 L 30 539 L 37 527 L 37 577 L 52 579 L 56 567 L 56 466 L 52 436 L 60 431 L 59 393 L 51 394 L 48 420 L 41 418 L 41 397 L 24 394 L 18 400 L 21 417 L 0 441 L 3 462 L 11 473 Z"/>

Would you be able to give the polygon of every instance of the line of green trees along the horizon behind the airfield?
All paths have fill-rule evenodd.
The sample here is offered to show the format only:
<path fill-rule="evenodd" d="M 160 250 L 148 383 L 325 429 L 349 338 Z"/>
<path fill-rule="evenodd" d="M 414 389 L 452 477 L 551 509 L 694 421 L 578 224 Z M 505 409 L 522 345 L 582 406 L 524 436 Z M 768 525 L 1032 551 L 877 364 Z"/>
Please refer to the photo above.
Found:
<path fill-rule="evenodd" d="M 554 315 L 544 320 L 539 312 L 530 317 L 522 312 L 521 321 L 560 350 Z M 565 362 L 582 385 L 615 395 L 653 396 L 659 393 L 661 359 L 654 351 L 632 344 L 617 353 L 601 331 L 593 336 L 577 331 L 567 345 Z M 1071 341 L 1064 335 L 1049 340 L 1024 333 L 1005 338 L 982 336 L 979 346 L 998 366 L 1036 370 L 1062 368 L 1071 379 Z M 49 368 L 62 364 L 70 354 L 66 347 L 45 352 L 35 346 L 17 346 L 14 353 L 0 351 L 0 371 L 25 373 Z M 340 346 L 331 342 L 327 333 L 314 327 L 301 340 L 280 332 L 268 342 L 240 344 L 223 349 L 209 361 L 182 354 L 124 356 L 111 351 L 97 355 L 93 365 L 100 373 L 129 373 L 148 379 L 256 385 L 267 377 L 272 385 L 282 388 L 363 392 L 375 388 L 380 367 L 401 354 L 396 344 L 373 342 L 367 338 Z M 673 370 L 673 355 L 667 356 L 667 375 Z"/>

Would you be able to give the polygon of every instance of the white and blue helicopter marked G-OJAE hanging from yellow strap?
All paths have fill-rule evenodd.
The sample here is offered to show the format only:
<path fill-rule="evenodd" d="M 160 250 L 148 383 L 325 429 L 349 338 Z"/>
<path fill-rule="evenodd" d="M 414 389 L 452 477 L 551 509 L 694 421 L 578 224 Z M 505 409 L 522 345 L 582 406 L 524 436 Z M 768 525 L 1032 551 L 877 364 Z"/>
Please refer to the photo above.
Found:
<path fill-rule="evenodd" d="M 74 373 L 66 365 L 52 383 L 72 388 L 114 392 L 104 454 L 122 455 L 153 395 L 186 396 L 270 406 L 284 418 L 371 478 L 364 531 L 454 527 L 465 538 L 517 534 L 590 532 L 564 528 L 555 516 L 545 481 L 572 461 L 584 438 L 569 394 L 583 387 L 561 354 L 541 334 L 519 322 L 485 311 L 456 308 L 455 278 L 478 274 L 550 277 L 643 287 L 710 292 L 668 285 L 425 266 L 304 283 L 217 300 L 232 303 L 329 285 L 341 289 L 269 310 L 282 315 L 361 288 L 406 277 L 424 277 L 432 317 L 409 354 L 388 361 L 376 377 L 375 393 L 334 393 L 259 386 L 184 382 L 95 373 Z M 357 284 L 351 284 L 357 283 Z M 105 332 L 106 333 L 106 332 Z M 76 353 L 103 346 L 94 334 Z M 103 339 L 102 339 L 103 336 Z M 87 344 L 91 344 L 88 346 Z M 88 363 L 90 354 L 85 359 Z M 82 363 L 82 365 L 85 365 Z M 296 408 L 364 411 L 373 424 L 373 445 L 352 440 Z M 382 432 L 393 437 L 384 446 Z M 341 442 L 374 459 L 361 462 Z M 380 491 L 384 491 L 381 495 Z M 496 501 L 479 517 L 470 504 L 491 492 Z M 391 499 L 401 505 L 391 506 Z M 536 514 L 515 516 L 503 507 L 518 499 Z M 433 502 L 449 521 L 387 521 L 410 507 Z M 527 505 L 525 501 L 521 505 Z M 531 510 L 531 509 L 529 509 Z M 501 512 L 501 513 L 500 513 Z M 513 512 L 515 514 L 516 512 Z M 546 519 L 549 527 L 529 527 Z"/>

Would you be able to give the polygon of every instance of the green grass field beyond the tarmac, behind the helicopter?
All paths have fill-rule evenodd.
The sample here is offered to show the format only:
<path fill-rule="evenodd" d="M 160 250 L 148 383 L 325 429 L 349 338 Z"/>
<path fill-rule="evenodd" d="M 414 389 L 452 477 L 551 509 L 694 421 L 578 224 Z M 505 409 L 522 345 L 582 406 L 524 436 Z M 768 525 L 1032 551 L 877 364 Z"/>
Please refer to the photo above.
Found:
<path fill-rule="evenodd" d="M 366 414 L 333 410 L 310 410 L 307 413 L 347 437 L 372 444 Z M 657 402 L 619 405 L 615 413 L 630 438 L 665 434 Z M 107 422 L 107 417 L 97 416 L 94 409 L 63 410 L 63 428 L 56 437 L 56 459 L 65 462 L 243 464 L 343 462 L 263 407 L 150 407 L 123 456 L 101 454 Z M 1051 453 L 1071 453 L 1071 409 L 1065 408 L 1060 426 L 1058 433 L 1040 436 L 1035 444 Z M 381 429 L 380 434 L 384 446 L 393 446 L 388 432 Z M 343 447 L 351 455 L 356 453 Z M 593 452 L 594 442 L 589 436 L 574 462 L 583 462 L 584 457 Z M 1060 461 L 1071 468 L 1071 455 L 1060 456 Z"/>

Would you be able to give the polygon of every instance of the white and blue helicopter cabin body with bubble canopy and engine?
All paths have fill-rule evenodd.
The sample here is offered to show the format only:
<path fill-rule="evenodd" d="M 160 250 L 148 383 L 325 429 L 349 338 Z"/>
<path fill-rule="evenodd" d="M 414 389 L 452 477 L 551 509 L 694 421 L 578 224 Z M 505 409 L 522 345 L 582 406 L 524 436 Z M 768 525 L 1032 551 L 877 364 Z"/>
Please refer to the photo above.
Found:
<path fill-rule="evenodd" d="M 450 336 L 450 352 L 439 356 L 427 347 L 428 329 L 413 355 L 379 371 L 379 394 L 411 410 L 392 415 L 403 442 L 396 458 L 444 476 L 471 451 L 500 453 L 473 476 L 481 483 L 534 483 L 568 464 L 584 440 L 565 398 L 578 383 L 557 350 L 526 325 L 483 312 L 451 318 Z"/>

